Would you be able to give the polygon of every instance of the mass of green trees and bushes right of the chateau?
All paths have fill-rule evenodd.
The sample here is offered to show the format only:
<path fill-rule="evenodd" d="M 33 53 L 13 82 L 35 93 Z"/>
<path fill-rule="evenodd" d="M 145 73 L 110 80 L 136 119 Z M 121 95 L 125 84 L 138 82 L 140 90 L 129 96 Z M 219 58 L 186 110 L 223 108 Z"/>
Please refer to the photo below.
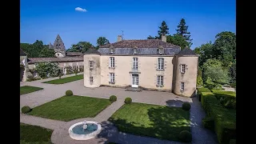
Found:
<path fill-rule="evenodd" d="M 221 85 L 236 86 L 236 34 L 223 31 L 215 42 L 206 42 L 194 49 L 199 54 L 198 86 L 221 89 Z"/>

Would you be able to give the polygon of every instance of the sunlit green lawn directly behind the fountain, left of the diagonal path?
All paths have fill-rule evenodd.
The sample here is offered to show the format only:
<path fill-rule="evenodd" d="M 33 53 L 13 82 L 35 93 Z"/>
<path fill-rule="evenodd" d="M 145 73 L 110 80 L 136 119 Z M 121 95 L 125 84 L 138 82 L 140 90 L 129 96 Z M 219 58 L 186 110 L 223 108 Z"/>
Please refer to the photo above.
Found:
<path fill-rule="evenodd" d="M 94 118 L 110 104 L 109 99 L 63 96 L 37 106 L 27 114 L 68 122 L 77 118 Z"/>

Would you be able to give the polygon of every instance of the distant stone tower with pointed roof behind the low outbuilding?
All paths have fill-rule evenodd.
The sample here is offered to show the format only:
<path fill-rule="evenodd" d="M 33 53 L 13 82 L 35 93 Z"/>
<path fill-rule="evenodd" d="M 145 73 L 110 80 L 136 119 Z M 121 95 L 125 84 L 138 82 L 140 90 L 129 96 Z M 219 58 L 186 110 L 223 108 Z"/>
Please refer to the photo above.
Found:
<path fill-rule="evenodd" d="M 57 38 L 54 41 L 54 51 L 55 51 L 56 57 L 58 58 L 66 57 L 66 48 L 59 34 L 57 35 Z"/>

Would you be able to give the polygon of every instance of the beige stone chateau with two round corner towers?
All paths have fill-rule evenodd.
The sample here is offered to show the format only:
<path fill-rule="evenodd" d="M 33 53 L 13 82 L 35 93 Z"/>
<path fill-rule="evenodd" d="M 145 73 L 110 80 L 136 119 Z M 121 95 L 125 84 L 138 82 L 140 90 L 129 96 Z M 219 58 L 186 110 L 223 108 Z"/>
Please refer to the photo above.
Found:
<path fill-rule="evenodd" d="M 162 40 L 122 40 L 84 54 L 84 86 L 195 93 L 198 55 Z"/>

